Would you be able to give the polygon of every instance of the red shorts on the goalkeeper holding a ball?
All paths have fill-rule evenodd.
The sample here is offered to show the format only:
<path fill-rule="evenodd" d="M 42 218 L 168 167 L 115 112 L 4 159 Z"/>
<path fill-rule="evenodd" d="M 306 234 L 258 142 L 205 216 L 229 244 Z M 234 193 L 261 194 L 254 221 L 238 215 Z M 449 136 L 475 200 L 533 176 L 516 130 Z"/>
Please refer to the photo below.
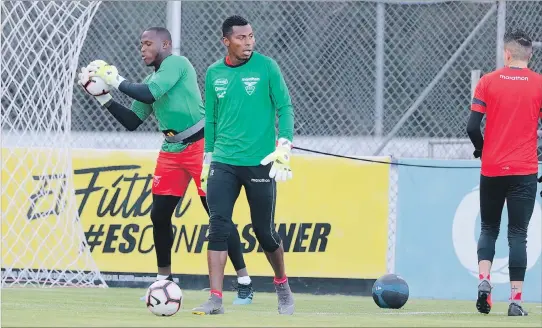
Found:
<path fill-rule="evenodd" d="M 152 193 L 156 195 L 184 196 L 190 179 L 194 179 L 198 194 L 201 190 L 201 166 L 203 161 L 204 140 L 201 139 L 180 153 L 161 151 L 154 170 Z"/>

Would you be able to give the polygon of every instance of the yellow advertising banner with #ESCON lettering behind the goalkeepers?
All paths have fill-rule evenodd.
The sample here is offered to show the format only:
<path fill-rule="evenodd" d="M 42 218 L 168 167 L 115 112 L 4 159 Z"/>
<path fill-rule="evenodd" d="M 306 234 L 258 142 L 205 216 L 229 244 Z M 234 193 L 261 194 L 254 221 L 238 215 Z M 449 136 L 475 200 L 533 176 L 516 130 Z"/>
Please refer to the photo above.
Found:
<path fill-rule="evenodd" d="M 32 151 L 36 163 L 53 163 L 60 158 L 48 151 Z M 101 271 L 154 272 L 149 215 L 157 152 L 72 150 L 71 157 L 76 202 L 68 201 L 66 190 L 70 190 L 71 181 L 62 172 L 44 172 L 43 164 L 4 161 L 2 213 L 7 216 L 2 218 L 3 267 L 84 270 L 88 259 L 81 259 L 84 256 L 77 255 L 80 245 L 73 245 L 74 236 L 84 232 Z M 62 167 L 46 168 L 54 170 L 55 166 Z M 288 275 L 360 279 L 384 274 L 389 165 L 295 156 L 292 170 L 294 179 L 278 184 L 275 216 Z M 51 210 L 55 208 L 58 210 Z M 82 231 L 71 219 L 77 213 Z M 244 190 L 233 220 L 249 273 L 271 275 L 252 230 Z M 209 219 L 193 182 L 175 210 L 173 225 L 174 273 L 207 274 Z M 234 274 L 229 262 L 226 273 Z"/>

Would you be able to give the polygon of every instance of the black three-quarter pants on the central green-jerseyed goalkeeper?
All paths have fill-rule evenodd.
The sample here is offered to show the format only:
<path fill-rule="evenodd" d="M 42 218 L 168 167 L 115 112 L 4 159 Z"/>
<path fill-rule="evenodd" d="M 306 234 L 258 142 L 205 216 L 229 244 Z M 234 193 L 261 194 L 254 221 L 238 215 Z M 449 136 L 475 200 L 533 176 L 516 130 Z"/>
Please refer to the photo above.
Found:
<path fill-rule="evenodd" d="M 274 252 L 280 246 L 275 230 L 276 182 L 269 178 L 271 164 L 267 166 L 234 166 L 213 162 L 207 180 L 207 204 L 211 212 L 208 249 L 225 251 L 230 235 L 235 202 L 245 188 L 250 207 L 252 229 L 265 252 Z"/>

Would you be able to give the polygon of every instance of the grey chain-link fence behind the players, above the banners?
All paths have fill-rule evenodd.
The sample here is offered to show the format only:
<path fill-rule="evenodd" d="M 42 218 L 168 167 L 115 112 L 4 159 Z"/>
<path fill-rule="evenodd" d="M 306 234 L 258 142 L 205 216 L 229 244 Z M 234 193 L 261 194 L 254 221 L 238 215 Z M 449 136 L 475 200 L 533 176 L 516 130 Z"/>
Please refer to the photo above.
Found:
<path fill-rule="evenodd" d="M 167 8 L 157 1 L 103 2 L 79 66 L 100 58 L 141 80 L 150 69 L 140 59 L 139 35 L 167 26 Z M 506 27 L 542 41 L 540 13 L 542 2 L 509 1 Z M 256 49 L 281 66 L 297 146 L 343 155 L 472 156 L 465 133 L 470 73 L 496 67 L 497 2 L 182 2 L 181 53 L 195 66 L 202 92 L 206 68 L 225 54 L 220 28 L 232 14 L 250 20 Z M 542 72 L 542 49 L 531 68 Z M 114 97 L 130 104 L 119 92 Z M 72 130 L 76 147 L 158 149 L 162 140 L 154 119 L 126 133 L 79 88 Z"/>

